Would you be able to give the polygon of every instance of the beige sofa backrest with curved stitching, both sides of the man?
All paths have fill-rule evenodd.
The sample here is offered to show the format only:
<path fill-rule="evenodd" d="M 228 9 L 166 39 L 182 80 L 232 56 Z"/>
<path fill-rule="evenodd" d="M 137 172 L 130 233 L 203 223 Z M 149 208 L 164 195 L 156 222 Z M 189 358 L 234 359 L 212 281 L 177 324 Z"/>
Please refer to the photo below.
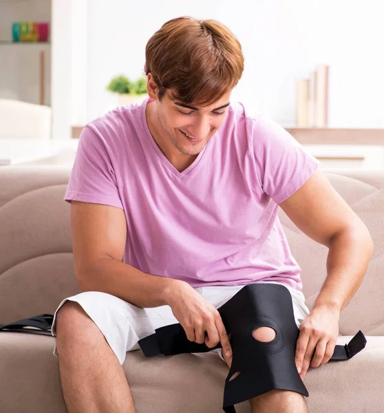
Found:
<path fill-rule="evenodd" d="M 341 313 L 340 334 L 384 335 L 384 171 L 325 170 L 367 225 L 375 251 L 361 287 Z M 72 264 L 68 167 L 0 167 L 0 324 L 53 314 L 80 293 Z M 308 308 L 326 279 L 328 248 L 310 240 L 284 211 L 279 218 L 301 266 Z"/>

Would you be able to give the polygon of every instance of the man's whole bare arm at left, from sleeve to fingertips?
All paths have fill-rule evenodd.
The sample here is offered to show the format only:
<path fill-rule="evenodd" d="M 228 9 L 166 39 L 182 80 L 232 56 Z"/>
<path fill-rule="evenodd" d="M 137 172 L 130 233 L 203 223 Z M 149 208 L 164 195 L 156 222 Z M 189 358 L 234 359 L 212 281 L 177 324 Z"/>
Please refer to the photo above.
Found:
<path fill-rule="evenodd" d="M 71 224 L 74 270 L 81 290 L 115 295 L 141 308 L 169 305 L 190 341 L 205 341 L 210 348 L 220 341 L 224 350 L 231 350 L 220 314 L 194 288 L 122 262 L 127 240 L 122 209 L 72 201 Z"/>

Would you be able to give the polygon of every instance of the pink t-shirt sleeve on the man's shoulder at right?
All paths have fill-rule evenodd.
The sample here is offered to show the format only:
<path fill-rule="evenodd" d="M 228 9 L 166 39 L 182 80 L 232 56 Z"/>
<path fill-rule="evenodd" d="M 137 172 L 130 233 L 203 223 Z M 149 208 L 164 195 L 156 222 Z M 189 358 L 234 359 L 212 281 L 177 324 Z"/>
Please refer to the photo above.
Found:
<path fill-rule="evenodd" d="M 277 204 L 297 191 L 320 162 L 268 116 L 253 120 L 251 133 L 260 184 Z"/>

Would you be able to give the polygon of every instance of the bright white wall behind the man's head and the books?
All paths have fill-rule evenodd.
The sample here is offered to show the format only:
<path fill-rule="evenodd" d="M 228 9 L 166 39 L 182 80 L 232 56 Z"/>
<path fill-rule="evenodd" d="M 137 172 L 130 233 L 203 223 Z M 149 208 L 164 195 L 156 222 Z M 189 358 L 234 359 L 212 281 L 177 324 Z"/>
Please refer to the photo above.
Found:
<path fill-rule="evenodd" d="M 245 70 L 233 100 L 250 112 L 295 125 L 296 81 L 322 63 L 330 65 L 329 126 L 384 127 L 381 0 L 92 0 L 87 8 L 85 121 L 116 105 L 105 90 L 112 76 L 140 76 L 145 45 L 162 23 L 191 15 L 222 21 L 242 43 Z"/>

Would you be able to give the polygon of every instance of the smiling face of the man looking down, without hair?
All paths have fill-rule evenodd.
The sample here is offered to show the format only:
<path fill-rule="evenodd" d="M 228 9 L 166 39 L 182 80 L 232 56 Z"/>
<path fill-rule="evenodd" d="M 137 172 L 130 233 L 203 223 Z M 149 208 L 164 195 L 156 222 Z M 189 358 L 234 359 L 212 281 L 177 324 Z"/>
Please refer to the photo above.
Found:
<path fill-rule="evenodd" d="M 197 155 L 222 125 L 228 112 L 230 96 L 231 91 L 212 105 L 201 107 L 173 100 L 167 90 L 161 102 L 156 100 L 161 129 L 179 152 Z"/>

